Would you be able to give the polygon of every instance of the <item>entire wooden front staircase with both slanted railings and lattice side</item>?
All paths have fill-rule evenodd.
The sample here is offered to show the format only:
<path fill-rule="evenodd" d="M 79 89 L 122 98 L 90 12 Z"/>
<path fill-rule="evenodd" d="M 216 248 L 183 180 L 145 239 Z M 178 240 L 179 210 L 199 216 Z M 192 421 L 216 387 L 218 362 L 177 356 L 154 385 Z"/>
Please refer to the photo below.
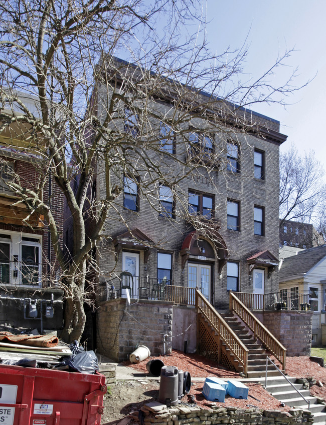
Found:
<path fill-rule="evenodd" d="M 285 370 L 286 348 L 257 317 L 230 291 L 231 315 L 222 317 L 196 289 L 197 352 L 242 372 L 245 376 L 264 376 L 266 351 L 274 355 Z M 268 375 L 277 373 L 268 366 Z"/>

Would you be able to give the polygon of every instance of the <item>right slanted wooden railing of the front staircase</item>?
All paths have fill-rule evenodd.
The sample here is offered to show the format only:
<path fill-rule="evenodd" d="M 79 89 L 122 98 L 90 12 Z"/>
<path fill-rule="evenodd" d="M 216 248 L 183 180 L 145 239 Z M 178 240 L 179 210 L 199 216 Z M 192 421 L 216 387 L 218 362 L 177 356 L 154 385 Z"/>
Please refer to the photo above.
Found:
<path fill-rule="evenodd" d="M 263 345 L 276 357 L 285 370 L 286 348 L 275 336 L 257 319 L 257 317 L 230 291 L 230 311 L 252 330 L 255 338 L 259 338 Z"/>

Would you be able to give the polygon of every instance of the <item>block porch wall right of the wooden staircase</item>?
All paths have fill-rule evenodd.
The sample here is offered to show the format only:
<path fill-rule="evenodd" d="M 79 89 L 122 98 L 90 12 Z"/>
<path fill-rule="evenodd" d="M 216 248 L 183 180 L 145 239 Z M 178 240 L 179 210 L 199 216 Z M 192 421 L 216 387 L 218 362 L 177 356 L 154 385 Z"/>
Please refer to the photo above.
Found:
<path fill-rule="evenodd" d="M 284 345 L 286 355 L 310 355 L 312 311 L 264 311 L 263 323 Z"/>

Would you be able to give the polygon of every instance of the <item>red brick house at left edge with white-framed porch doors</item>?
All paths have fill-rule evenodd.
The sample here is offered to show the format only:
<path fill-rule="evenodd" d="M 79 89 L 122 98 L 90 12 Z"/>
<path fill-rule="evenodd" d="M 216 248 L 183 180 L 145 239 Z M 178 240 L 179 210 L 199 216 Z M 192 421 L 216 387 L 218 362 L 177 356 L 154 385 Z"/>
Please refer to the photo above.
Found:
<path fill-rule="evenodd" d="M 35 101 L 21 96 L 33 107 Z M 34 108 L 36 109 L 36 108 Z M 58 287 L 51 236 L 42 215 L 28 215 L 8 183 L 19 178 L 26 186 L 40 176 L 37 156 L 26 149 L 19 126 L 0 134 L 0 324 L 61 329 L 62 290 Z M 54 218 L 63 224 L 63 196 L 55 184 L 45 187 L 44 199 L 55 202 Z M 50 196 L 50 198 L 49 198 Z"/>

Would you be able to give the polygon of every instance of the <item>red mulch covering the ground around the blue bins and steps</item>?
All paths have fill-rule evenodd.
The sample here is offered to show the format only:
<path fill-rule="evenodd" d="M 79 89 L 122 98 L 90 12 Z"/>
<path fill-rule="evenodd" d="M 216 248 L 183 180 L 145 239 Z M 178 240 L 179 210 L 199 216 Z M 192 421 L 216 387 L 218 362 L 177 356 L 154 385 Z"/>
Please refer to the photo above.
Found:
<path fill-rule="evenodd" d="M 190 395 L 194 396 L 194 401 L 201 407 L 209 408 L 211 405 L 211 402 L 206 400 L 202 394 L 204 381 L 207 376 L 217 376 L 222 379 L 240 377 L 239 373 L 230 371 L 203 356 L 198 354 L 185 354 L 182 351 L 177 350 L 172 350 L 171 355 L 149 357 L 138 364 L 132 364 L 129 361 L 125 361 L 123 364 L 125 366 L 132 367 L 137 371 L 148 373 L 146 363 L 151 359 L 160 359 L 166 366 L 176 366 L 178 369 L 188 371 L 192 378 L 203 378 L 203 381 L 192 381 L 190 390 Z M 319 380 L 323 386 L 319 387 L 317 385 L 313 385 L 310 388 L 311 394 L 326 399 L 326 368 L 323 368 L 318 363 L 311 361 L 308 356 L 286 357 L 286 372 L 289 376 L 297 378 L 311 376 Z M 264 378 L 261 379 L 261 383 L 264 383 Z M 216 404 L 220 406 L 235 406 L 238 408 L 258 407 L 283 411 L 288 411 L 290 409 L 290 406 L 287 405 L 282 407 L 280 402 L 276 398 L 272 397 L 270 393 L 262 387 L 262 385 L 252 382 L 248 382 L 246 385 L 249 388 L 248 399 L 237 399 L 227 395 L 224 402 Z M 182 401 L 186 403 L 192 402 L 189 395 L 185 395 L 182 398 Z"/>

